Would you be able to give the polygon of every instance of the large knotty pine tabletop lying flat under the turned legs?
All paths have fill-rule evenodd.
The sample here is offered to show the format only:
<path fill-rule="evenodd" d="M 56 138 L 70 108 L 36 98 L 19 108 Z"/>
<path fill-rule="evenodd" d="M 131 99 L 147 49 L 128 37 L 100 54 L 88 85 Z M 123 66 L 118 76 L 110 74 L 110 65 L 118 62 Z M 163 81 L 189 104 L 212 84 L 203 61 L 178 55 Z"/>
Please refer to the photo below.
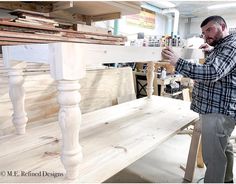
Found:
<path fill-rule="evenodd" d="M 171 105 L 170 105 L 171 104 Z M 103 182 L 198 118 L 190 103 L 152 96 L 82 115 L 80 142 L 83 161 L 73 182 Z M 1 182 L 61 182 L 57 122 L 31 128 L 26 135 L 0 139 L 0 170 L 61 173 L 52 177 L 10 177 Z M 174 156 L 174 153 L 173 153 Z M 155 164 L 155 163 L 153 163 Z"/>

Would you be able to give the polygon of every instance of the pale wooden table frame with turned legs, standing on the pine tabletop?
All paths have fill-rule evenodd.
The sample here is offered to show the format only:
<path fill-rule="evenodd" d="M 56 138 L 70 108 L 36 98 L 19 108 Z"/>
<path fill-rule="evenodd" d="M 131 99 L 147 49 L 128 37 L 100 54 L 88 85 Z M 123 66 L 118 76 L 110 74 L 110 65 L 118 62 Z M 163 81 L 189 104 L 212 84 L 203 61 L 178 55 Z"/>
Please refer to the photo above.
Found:
<path fill-rule="evenodd" d="M 75 179 L 82 159 L 79 140 L 81 125 L 79 79 L 85 76 L 85 66 L 113 62 L 148 62 L 147 95 L 153 93 L 154 62 L 161 59 L 162 48 L 126 47 L 80 43 L 51 43 L 4 46 L 4 65 L 9 69 L 10 98 L 13 103 L 13 123 L 18 134 L 25 133 L 27 114 L 24 108 L 23 68 L 26 62 L 48 63 L 52 77 L 58 81 L 58 121 L 62 131 L 61 160 L 66 176 Z M 175 48 L 185 58 L 201 58 L 201 51 Z M 189 54 L 187 56 L 186 54 Z"/>

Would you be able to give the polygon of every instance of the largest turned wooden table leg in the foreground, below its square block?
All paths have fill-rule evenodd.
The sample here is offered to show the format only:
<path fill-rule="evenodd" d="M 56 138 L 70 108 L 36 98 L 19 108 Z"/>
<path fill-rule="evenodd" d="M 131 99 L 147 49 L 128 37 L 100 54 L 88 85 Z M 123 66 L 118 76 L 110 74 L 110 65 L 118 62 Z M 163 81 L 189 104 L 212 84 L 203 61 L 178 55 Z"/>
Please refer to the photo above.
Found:
<path fill-rule="evenodd" d="M 68 179 L 75 179 L 78 176 L 78 165 L 82 160 L 82 150 L 79 144 L 81 124 L 79 88 L 78 80 L 60 80 L 58 82 L 58 102 L 60 104 L 58 120 L 62 131 L 61 161 Z"/>

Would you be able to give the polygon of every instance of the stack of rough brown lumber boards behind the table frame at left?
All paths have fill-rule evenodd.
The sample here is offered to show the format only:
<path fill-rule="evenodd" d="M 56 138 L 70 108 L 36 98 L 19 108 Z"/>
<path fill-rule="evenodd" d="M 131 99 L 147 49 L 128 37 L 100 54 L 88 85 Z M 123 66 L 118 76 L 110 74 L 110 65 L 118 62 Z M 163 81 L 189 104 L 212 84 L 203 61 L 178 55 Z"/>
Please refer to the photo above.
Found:
<path fill-rule="evenodd" d="M 0 45 L 51 42 L 124 45 L 126 41 L 123 36 L 74 31 L 70 26 L 62 25 L 41 14 L 24 11 L 15 11 L 12 14 L 17 18 L 0 19 Z"/>

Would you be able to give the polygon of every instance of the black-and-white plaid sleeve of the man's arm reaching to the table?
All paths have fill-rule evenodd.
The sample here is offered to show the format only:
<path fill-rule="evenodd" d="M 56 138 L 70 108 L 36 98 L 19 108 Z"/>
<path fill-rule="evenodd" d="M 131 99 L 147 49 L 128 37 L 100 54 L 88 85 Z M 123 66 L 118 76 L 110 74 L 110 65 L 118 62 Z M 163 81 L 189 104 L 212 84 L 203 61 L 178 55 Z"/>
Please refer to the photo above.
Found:
<path fill-rule="evenodd" d="M 235 67 L 236 48 L 226 45 L 213 51 L 203 65 L 180 58 L 175 69 L 183 76 L 194 80 L 217 81 L 235 70 Z"/>

